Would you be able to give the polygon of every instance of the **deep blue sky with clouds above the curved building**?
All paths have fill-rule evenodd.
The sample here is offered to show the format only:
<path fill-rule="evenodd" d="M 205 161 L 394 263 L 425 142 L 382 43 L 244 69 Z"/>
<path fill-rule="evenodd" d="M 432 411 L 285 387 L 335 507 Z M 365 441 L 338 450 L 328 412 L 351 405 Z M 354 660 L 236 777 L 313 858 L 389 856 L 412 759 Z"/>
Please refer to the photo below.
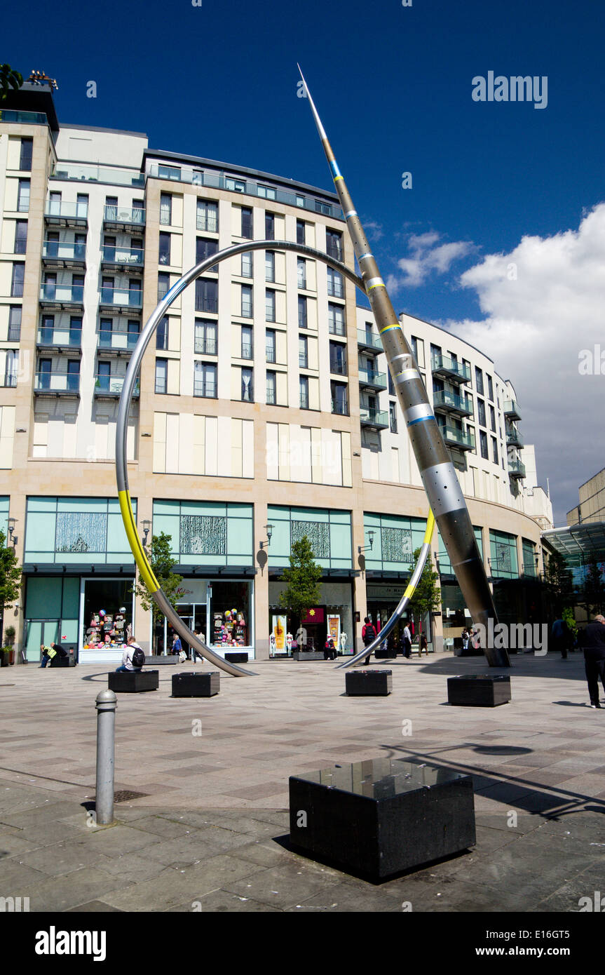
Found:
<path fill-rule="evenodd" d="M 546 378 L 540 394 L 532 381 L 530 366 L 544 370 L 540 342 L 525 348 L 525 330 L 508 329 L 508 341 L 502 331 L 503 319 L 526 322 L 529 331 L 542 329 L 548 348 L 539 290 L 523 296 L 519 288 L 511 310 L 488 269 L 473 268 L 498 254 L 517 254 L 522 267 L 515 249 L 523 237 L 539 242 L 542 267 L 557 243 L 565 251 L 566 231 L 582 250 L 580 280 L 587 265 L 599 264 L 598 244 L 588 257 L 582 249 L 581 221 L 605 197 L 604 41 L 597 0 L 412 0 L 411 7 L 400 0 L 203 0 L 201 7 L 190 0 L 77 7 L 34 0 L 5 12 L 0 59 L 24 75 L 38 68 L 57 78 L 59 121 L 145 132 L 155 148 L 329 188 L 308 103 L 296 94 L 299 60 L 359 214 L 371 225 L 397 311 L 454 329 L 462 323 L 503 371 L 510 361 L 527 406 L 522 429 L 537 445 L 540 480 L 550 479 L 560 523 L 577 503 L 577 486 L 604 466 L 602 430 L 590 444 L 570 445 L 571 470 L 563 468 L 561 444 L 545 430 L 552 409 L 562 409 L 560 398 L 548 406 Z M 473 77 L 490 70 L 547 76 L 547 107 L 474 101 Z M 86 97 L 90 80 L 96 98 Z M 412 175 L 411 189 L 401 188 L 403 172 Z M 555 264 L 543 280 L 554 309 Z M 461 279 L 466 271 L 470 277 Z M 577 283 L 578 268 L 567 271 Z M 558 374 L 567 370 L 574 382 L 585 291 L 570 299 L 578 302 L 576 345 L 563 340 L 567 320 L 556 331 Z M 588 346 L 598 331 L 596 308 L 589 317 Z M 519 360 L 526 369 L 515 370 Z M 586 409 L 602 410 L 605 377 L 587 378 L 595 381 L 579 385 L 574 398 L 582 408 L 587 396 Z M 582 415 L 575 413 L 576 424 Z"/>

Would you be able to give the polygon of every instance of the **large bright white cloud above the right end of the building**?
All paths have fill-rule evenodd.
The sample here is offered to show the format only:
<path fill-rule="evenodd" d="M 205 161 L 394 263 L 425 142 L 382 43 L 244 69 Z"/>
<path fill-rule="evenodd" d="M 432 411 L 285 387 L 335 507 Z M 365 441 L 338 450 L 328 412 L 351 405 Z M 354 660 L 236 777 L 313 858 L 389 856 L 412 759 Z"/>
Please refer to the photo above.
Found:
<path fill-rule="evenodd" d="M 605 375 L 581 375 L 580 353 L 605 351 L 605 203 L 577 230 L 523 237 L 460 278 L 484 318 L 443 323 L 490 356 L 512 381 L 521 432 L 536 445 L 538 477 L 556 524 L 578 503 L 578 487 L 605 466 Z"/>

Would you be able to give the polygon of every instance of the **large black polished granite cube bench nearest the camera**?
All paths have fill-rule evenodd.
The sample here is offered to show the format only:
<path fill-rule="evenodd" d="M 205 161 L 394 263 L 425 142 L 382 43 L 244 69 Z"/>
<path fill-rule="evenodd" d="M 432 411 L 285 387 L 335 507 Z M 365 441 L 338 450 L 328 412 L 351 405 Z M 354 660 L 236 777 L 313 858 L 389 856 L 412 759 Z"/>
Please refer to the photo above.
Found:
<path fill-rule="evenodd" d="M 381 880 L 475 842 L 473 778 L 404 759 L 333 765 L 289 779 L 290 842 Z"/>

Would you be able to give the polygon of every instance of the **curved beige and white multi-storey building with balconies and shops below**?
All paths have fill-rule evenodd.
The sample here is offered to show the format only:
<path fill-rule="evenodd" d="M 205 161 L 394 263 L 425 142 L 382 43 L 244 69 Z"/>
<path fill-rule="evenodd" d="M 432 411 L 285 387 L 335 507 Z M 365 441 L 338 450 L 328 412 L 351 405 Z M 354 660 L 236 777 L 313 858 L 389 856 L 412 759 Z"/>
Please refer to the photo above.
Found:
<path fill-rule="evenodd" d="M 11 622 L 30 660 L 59 638 L 82 661 L 111 662 L 128 627 L 144 647 L 153 633 L 132 595 L 114 473 L 118 400 L 142 324 L 183 270 L 231 244 L 295 241 L 349 266 L 353 249 L 333 193 L 152 150 L 137 133 L 59 126 L 44 85 L 25 85 L 2 110 L 0 209 L 0 526 L 23 566 Z M 427 499 L 358 297 L 321 261 L 276 243 L 208 270 L 145 353 L 128 442 L 137 524 L 146 542 L 170 535 L 179 611 L 219 649 L 287 651 L 280 576 L 303 534 L 323 569 L 304 621 L 320 645 L 328 625 L 352 648 L 367 612 L 384 623 L 409 575 Z M 401 325 L 497 602 L 522 615 L 551 513 L 514 390 L 450 332 L 409 316 Z M 468 620 L 436 535 L 434 547 L 440 645 Z M 156 636 L 167 639 L 161 625 Z"/>

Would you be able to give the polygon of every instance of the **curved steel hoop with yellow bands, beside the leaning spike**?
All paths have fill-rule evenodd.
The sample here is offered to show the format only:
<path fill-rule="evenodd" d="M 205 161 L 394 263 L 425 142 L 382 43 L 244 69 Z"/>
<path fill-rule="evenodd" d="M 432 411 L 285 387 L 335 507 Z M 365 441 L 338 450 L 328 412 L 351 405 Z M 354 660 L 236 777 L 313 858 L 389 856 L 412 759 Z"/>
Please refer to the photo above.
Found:
<path fill-rule="evenodd" d="M 183 640 L 189 643 L 190 646 L 194 647 L 194 649 L 202 654 L 208 661 L 210 661 L 216 667 L 219 667 L 221 670 L 226 671 L 228 674 L 231 674 L 233 677 L 254 677 L 255 675 L 252 671 L 248 671 L 244 667 L 238 667 L 236 664 L 223 660 L 219 654 L 210 649 L 207 643 L 205 643 L 203 640 L 199 640 L 196 635 L 192 633 L 189 627 L 185 625 L 176 610 L 170 604 L 169 600 L 162 591 L 160 583 L 153 573 L 153 569 L 149 563 L 145 550 L 143 549 L 140 538 L 138 537 L 136 524 L 134 522 L 134 515 L 132 513 L 132 501 L 128 479 L 127 432 L 132 391 L 134 389 L 136 373 L 140 369 L 143 356 L 153 333 L 156 331 L 160 321 L 170 308 L 172 302 L 178 297 L 180 292 L 183 292 L 185 288 L 191 284 L 192 281 L 199 278 L 201 274 L 208 271 L 208 269 L 213 267 L 214 264 L 219 264 L 221 261 L 227 260 L 229 257 L 235 257 L 238 254 L 247 254 L 249 251 L 295 251 L 297 254 L 306 254 L 307 256 L 313 257 L 316 260 L 321 260 L 324 264 L 327 264 L 328 267 L 332 267 L 335 271 L 339 271 L 343 277 L 353 282 L 354 285 L 357 285 L 360 291 L 365 293 L 365 285 L 363 280 L 358 274 L 355 273 L 355 271 L 352 271 L 349 267 L 347 267 L 346 264 L 343 264 L 335 257 L 330 257 L 329 254 L 323 254 L 321 251 L 317 251 L 315 248 L 307 247 L 304 244 L 296 244 L 293 241 L 246 241 L 245 244 L 234 244 L 232 247 L 224 248 L 222 251 L 218 251 L 216 254 L 206 257 L 194 267 L 190 268 L 189 271 L 183 274 L 183 276 L 172 285 L 170 291 L 166 293 L 164 298 L 157 305 L 156 309 L 147 319 L 143 331 L 140 333 L 134 351 L 132 352 L 131 361 L 126 371 L 124 385 L 122 387 L 122 395 L 120 396 L 120 405 L 118 407 L 118 419 L 116 423 L 116 480 L 118 484 L 120 510 L 122 512 L 122 520 L 124 522 L 124 527 L 126 529 L 132 549 L 132 555 L 138 567 L 141 578 L 149 590 L 154 603 L 164 613 L 170 622 L 170 626 L 176 631 L 176 633 L 178 633 Z M 432 523 L 431 534 L 433 534 L 432 512 L 430 513 L 429 521 Z M 427 523 L 427 530 L 428 528 L 429 523 Z M 369 647 L 363 647 L 363 650 L 359 651 L 359 653 L 357 653 L 351 660 L 347 660 L 344 664 L 340 664 L 340 667 L 353 666 L 353 664 L 356 663 L 362 656 L 366 656 L 368 652 L 371 653 L 375 644 L 378 645 L 378 643 L 382 643 L 382 641 L 385 639 L 385 631 L 387 631 L 388 634 L 393 629 L 398 617 L 405 608 L 405 605 L 407 605 L 409 602 L 409 598 L 416 586 L 418 578 L 420 578 L 427 558 L 427 552 L 428 545 L 424 544 L 414 571 L 414 575 L 412 576 L 412 580 L 410 580 L 410 584 L 407 587 L 401 602 L 398 604 L 394 615 L 381 631 L 381 640 L 375 641 Z M 413 586 L 412 582 L 414 583 Z M 407 602 L 405 602 L 406 596 Z"/>

